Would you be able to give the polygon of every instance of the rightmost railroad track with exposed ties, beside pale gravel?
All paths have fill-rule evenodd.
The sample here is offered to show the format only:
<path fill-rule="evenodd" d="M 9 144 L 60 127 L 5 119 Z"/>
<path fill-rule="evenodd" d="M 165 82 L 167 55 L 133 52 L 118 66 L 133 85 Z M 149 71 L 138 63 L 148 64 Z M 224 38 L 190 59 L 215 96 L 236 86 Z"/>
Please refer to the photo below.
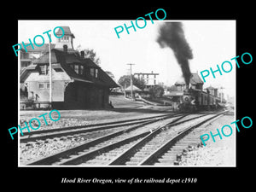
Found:
<path fill-rule="evenodd" d="M 123 154 L 112 160 L 109 166 L 172 166 L 178 165 L 177 160 L 188 146 L 198 144 L 198 135 L 190 135 L 196 127 L 212 119 L 217 119 L 222 113 L 201 116 L 192 125 L 185 125 L 176 131 L 168 129 L 155 130 L 138 143 L 134 143 Z M 208 115 L 207 115 L 208 116 Z M 172 129 L 174 128 L 172 124 Z M 169 126 L 170 128 L 170 126 Z"/>

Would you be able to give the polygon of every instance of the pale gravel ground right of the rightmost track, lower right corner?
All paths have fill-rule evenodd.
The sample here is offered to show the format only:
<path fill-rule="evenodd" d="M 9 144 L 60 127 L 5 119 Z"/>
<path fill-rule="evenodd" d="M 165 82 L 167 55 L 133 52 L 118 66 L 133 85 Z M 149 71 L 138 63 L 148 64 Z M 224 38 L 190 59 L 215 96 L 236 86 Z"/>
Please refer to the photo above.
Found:
<path fill-rule="evenodd" d="M 197 134 L 201 136 L 203 134 L 217 134 L 217 129 L 221 131 L 224 125 L 230 125 L 235 121 L 233 115 L 224 115 L 223 117 L 214 120 L 213 122 L 204 125 L 205 131 L 199 131 Z M 206 146 L 201 145 L 187 154 L 182 156 L 179 162 L 180 166 L 236 166 L 236 128 L 233 128 L 233 133 L 230 137 L 219 136 L 215 137 L 215 143 L 212 137 L 206 141 Z M 196 129 L 195 129 L 196 131 Z M 228 134 L 228 133 L 226 133 Z"/>

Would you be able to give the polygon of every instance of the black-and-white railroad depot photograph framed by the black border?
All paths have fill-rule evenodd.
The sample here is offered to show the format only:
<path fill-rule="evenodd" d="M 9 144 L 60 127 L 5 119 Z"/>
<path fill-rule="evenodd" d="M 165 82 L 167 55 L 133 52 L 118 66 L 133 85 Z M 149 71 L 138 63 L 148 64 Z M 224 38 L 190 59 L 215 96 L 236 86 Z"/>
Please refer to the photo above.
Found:
<path fill-rule="evenodd" d="M 236 166 L 236 20 L 18 30 L 19 166 Z"/>

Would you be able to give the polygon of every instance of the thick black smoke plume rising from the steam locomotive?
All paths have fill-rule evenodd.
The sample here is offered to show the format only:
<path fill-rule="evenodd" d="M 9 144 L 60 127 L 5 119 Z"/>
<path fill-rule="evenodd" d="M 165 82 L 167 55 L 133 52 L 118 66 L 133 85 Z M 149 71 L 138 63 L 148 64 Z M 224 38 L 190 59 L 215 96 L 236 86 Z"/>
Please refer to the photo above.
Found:
<path fill-rule="evenodd" d="M 184 36 L 183 25 L 181 22 L 166 22 L 160 26 L 157 42 L 161 48 L 169 47 L 180 65 L 185 83 L 188 85 L 191 72 L 189 69 L 189 59 L 193 58 L 192 49 Z"/>

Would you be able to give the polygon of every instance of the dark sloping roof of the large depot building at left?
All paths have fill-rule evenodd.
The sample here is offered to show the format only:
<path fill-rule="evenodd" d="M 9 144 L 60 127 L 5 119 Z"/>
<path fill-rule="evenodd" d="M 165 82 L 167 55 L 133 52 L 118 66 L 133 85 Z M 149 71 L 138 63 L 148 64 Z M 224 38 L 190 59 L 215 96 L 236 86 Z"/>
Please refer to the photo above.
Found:
<path fill-rule="evenodd" d="M 27 73 L 29 73 L 32 70 L 36 70 L 36 67 L 38 65 L 49 63 L 49 52 L 40 56 L 38 59 L 32 61 L 32 63 L 33 63 L 32 65 L 30 65 L 29 67 L 26 67 L 26 70 L 24 70 L 20 74 L 21 82 L 26 79 Z M 105 73 L 101 69 L 101 67 L 98 67 L 89 58 L 82 59 L 77 53 L 68 53 L 68 52 L 58 50 L 58 49 L 51 49 L 51 63 L 52 63 L 52 67 L 61 67 L 67 73 L 67 75 L 75 81 L 100 84 L 100 85 L 108 86 L 108 87 L 118 87 L 119 86 L 118 84 L 116 84 L 113 81 L 113 79 L 111 79 L 108 76 L 107 73 Z M 75 73 L 73 68 L 70 67 L 70 64 L 72 64 L 72 63 L 83 65 L 84 67 L 97 68 L 98 69 L 98 78 L 85 77 L 85 76 L 79 75 L 78 73 Z"/>

